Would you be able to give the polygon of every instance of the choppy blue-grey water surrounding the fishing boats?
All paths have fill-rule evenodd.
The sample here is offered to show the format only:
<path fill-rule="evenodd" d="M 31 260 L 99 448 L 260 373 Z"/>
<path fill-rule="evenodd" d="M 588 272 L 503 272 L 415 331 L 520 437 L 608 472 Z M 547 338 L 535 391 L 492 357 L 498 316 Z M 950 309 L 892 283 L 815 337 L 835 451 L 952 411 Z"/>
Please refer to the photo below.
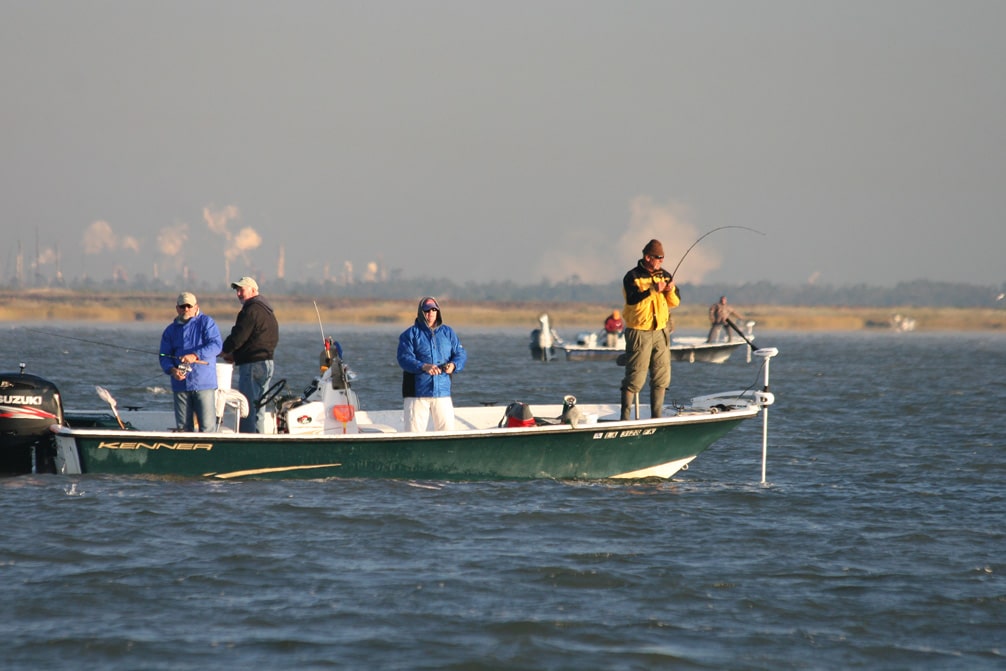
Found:
<path fill-rule="evenodd" d="M 67 405 L 170 405 L 152 355 L 5 335 L 0 368 Z M 396 330 L 330 335 L 396 405 Z M 462 337 L 459 403 L 618 397 L 620 368 L 533 362 L 526 330 Z M 767 485 L 756 422 L 667 483 L 0 481 L 2 666 L 1006 668 L 1006 335 L 759 339 Z M 305 385 L 320 342 L 285 328 L 278 374 Z M 676 363 L 669 397 L 758 379 L 740 352 Z"/>

